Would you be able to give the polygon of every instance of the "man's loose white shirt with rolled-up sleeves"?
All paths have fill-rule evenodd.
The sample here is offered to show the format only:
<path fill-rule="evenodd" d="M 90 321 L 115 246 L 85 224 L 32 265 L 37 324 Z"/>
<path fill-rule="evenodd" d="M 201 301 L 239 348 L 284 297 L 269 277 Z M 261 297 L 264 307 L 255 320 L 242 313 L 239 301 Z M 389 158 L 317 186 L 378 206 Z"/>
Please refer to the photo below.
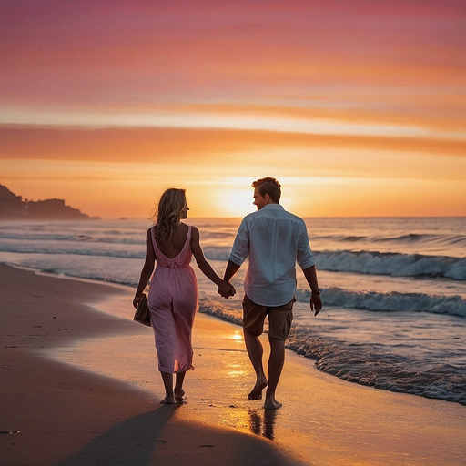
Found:
<path fill-rule="evenodd" d="M 315 265 L 306 224 L 279 204 L 267 204 L 239 226 L 229 259 L 240 266 L 249 257 L 244 289 L 262 306 L 282 306 L 296 292 L 296 263 Z"/>

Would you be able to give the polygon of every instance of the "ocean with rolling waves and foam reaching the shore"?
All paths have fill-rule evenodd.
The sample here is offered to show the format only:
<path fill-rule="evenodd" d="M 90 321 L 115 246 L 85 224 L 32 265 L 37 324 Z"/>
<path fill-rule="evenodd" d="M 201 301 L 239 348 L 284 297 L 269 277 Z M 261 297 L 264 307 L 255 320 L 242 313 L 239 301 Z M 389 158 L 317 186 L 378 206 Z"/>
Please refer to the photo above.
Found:
<path fill-rule="evenodd" d="M 288 348 L 319 370 L 382 390 L 466 405 L 466 218 L 306 218 L 324 309 L 298 269 Z M 223 275 L 239 218 L 192 218 Z M 150 220 L 0 222 L 0 261 L 137 287 Z M 199 311 L 239 324 L 234 299 L 193 264 Z M 128 302 L 128 315 L 132 313 Z M 196 324 L 195 324 L 196 325 Z"/>

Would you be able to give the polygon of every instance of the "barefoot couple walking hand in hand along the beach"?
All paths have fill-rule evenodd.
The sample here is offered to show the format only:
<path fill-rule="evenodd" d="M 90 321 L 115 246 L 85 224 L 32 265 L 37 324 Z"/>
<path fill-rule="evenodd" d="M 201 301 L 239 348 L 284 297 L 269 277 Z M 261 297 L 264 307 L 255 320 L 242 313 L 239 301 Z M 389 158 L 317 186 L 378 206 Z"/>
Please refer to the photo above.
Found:
<path fill-rule="evenodd" d="M 183 402 L 183 381 L 192 369 L 191 331 L 198 309 L 198 283 L 190 267 L 192 256 L 198 268 L 218 286 L 228 299 L 236 293 L 230 279 L 248 258 L 244 282 L 243 332 L 249 360 L 256 372 L 256 384 L 249 400 L 261 400 L 264 408 L 281 406 L 275 393 L 285 360 L 285 341 L 293 319 L 296 291 L 296 263 L 302 268 L 311 289 L 310 309 L 322 309 L 315 259 L 309 248 L 304 221 L 279 205 L 281 187 L 275 178 L 252 183 L 257 212 L 243 218 L 228 259 L 224 279 L 220 279 L 204 257 L 198 228 L 187 226 L 184 189 L 167 189 L 157 206 L 157 221 L 147 230 L 146 261 L 141 271 L 133 304 L 137 307 L 152 276 L 148 304 L 154 329 L 158 370 L 166 391 L 163 403 Z M 268 317 L 268 378 L 263 368 L 263 347 L 259 336 Z M 176 374 L 175 387 L 173 374 Z"/>

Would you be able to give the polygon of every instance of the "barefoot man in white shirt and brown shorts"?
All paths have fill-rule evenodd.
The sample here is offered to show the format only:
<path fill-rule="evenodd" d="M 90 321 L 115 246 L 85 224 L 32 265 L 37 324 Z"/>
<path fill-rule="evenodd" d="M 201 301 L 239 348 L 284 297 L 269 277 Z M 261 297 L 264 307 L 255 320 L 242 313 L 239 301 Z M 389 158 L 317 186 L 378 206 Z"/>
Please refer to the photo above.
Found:
<path fill-rule="evenodd" d="M 249 257 L 244 283 L 243 332 L 257 380 L 248 399 L 261 400 L 262 390 L 267 387 L 264 408 L 276 410 L 281 406 L 275 391 L 285 361 L 285 340 L 293 319 L 297 262 L 312 291 L 310 309 L 315 310 L 316 316 L 322 309 L 322 301 L 316 261 L 309 248 L 304 221 L 279 205 L 281 187 L 275 178 L 258 179 L 252 187 L 258 211 L 243 218 L 224 279 L 229 282 Z M 270 344 L 268 380 L 262 365 L 264 350 L 258 338 L 263 332 L 266 316 Z"/>

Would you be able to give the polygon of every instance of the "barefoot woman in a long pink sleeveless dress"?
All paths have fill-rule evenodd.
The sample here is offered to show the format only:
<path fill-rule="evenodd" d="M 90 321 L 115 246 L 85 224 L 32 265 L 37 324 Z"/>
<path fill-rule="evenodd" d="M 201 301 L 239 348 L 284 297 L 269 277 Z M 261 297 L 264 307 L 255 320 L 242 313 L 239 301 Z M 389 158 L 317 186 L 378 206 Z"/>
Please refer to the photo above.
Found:
<path fill-rule="evenodd" d="M 198 268 L 212 280 L 225 297 L 235 289 L 220 279 L 210 267 L 199 244 L 199 231 L 188 227 L 184 189 L 170 188 L 158 202 L 157 222 L 147 230 L 146 262 L 141 271 L 133 305 L 137 304 L 147 286 L 157 260 L 157 268 L 150 282 L 148 305 L 158 356 L 158 370 L 165 386 L 162 403 L 183 402 L 183 381 L 186 371 L 193 369 L 191 330 L 198 309 L 198 282 L 190 267 L 194 255 Z M 176 376 L 175 390 L 173 374 Z"/>

